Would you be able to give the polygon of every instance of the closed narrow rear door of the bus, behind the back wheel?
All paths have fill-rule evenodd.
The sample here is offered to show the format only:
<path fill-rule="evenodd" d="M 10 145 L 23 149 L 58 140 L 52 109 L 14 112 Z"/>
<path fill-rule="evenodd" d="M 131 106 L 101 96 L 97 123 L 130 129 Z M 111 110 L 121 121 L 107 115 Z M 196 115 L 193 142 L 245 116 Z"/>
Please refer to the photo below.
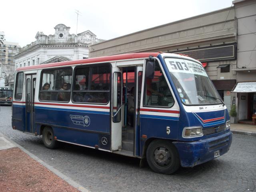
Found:
<path fill-rule="evenodd" d="M 26 132 L 34 132 L 36 74 L 26 74 Z"/>

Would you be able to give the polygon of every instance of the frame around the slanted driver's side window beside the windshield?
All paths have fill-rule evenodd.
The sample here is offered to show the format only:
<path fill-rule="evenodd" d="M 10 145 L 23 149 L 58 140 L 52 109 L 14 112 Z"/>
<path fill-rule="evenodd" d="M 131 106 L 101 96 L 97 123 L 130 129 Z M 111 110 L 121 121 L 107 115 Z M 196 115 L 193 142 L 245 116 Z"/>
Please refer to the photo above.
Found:
<path fill-rule="evenodd" d="M 175 102 L 176 102 L 175 96 L 174 96 L 174 93 L 173 93 L 173 90 L 172 90 L 172 86 L 170 85 L 170 82 L 168 81 L 167 75 L 166 75 L 166 73 L 164 72 L 164 68 L 163 68 L 163 66 L 160 64 L 160 63 L 161 63 L 160 60 L 158 60 L 158 58 L 155 58 L 155 59 L 156 59 L 156 61 L 158 62 L 160 69 L 162 70 L 162 74 L 163 74 L 163 76 L 164 76 L 164 79 L 166 80 L 166 84 L 167 84 L 167 86 L 168 86 L 168 88 L 169 88 L 169 90 L 170 90 L 170 93 L 172 94 L 172 97 L 173 97 L 174 102 L 173 102 L 172 106 L 170 106 L 170 107 L 168 107 L 168 106 L 146 105 L 146 101 L 145 101 L 145 100 L 146 100 L 146 93 L 147 93 L 147 89 L 146 89 L 146 84 L 147 84 L 146 64 L 147 64 L 147 62 L 149 61 L 149 59 L 146 59 L 145 70 L 143 71 L 143 73 L 144 73 L 144 74 L 143 74 L 144 85 L 143 85 L 143 100 L 142 100 L 142 106 L 143 106 L 143 108 L 146 107 L 146 108 L 166 108 L 166 109 L 169 109 L 169 108 L 172 108 L 172 107 L 174 106 Z M 154 71 L 154 72 L 155 72 L 155 71 Z M 168 84 L 168 82 L 169 82 L 169 84 Z"/>

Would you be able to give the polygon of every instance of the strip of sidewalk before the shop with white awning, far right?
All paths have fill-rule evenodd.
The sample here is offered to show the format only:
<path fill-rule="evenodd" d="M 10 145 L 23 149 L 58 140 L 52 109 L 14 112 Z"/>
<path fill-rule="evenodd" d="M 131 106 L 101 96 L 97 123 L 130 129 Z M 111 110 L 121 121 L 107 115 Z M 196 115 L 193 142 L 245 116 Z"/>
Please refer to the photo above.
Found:
<path fill-rule="evenodd" d="M 230 124 L 230 130 L 235 134 L 256 136 L 256 125 L 232 123 Z"/>

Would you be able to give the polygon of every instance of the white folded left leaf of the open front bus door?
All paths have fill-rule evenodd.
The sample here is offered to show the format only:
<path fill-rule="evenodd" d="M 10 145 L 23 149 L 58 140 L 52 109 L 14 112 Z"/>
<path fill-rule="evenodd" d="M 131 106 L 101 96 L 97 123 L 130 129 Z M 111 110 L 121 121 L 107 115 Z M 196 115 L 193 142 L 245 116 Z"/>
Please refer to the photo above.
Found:
<path fill-rule="evenodd" d="M 111 150 L 122 148 L 122 73 L 113 68 L 112 102 L 111 102 Z"/>

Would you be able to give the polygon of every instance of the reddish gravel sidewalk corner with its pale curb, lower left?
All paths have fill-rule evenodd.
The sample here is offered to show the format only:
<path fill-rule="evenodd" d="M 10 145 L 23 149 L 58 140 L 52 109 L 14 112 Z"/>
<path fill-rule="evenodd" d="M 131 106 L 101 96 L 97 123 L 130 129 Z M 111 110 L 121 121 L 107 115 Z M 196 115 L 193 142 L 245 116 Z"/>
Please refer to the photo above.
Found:
<path fill-rule="evenodd" d="M 0 133 L 1 192 L 88 192 Z"/>

